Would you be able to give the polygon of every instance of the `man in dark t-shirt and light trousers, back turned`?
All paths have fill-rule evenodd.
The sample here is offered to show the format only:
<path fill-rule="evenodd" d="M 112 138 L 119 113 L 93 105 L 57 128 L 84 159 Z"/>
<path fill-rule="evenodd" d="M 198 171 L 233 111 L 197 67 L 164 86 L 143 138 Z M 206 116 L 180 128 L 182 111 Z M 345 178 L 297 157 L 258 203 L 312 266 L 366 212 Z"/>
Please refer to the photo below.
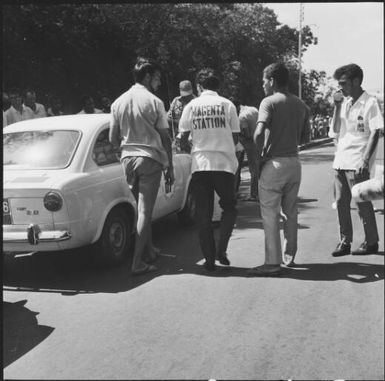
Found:
<path fill-rule="evenodd" d="M 249 270 L 252 276 L 278 276 L 281 263 L 294 264 L 297 252 L 297 196 L 301 182 L 298 146 L 308 131 L 309 108 L 288 92 L 289 71 L 274 63 L 263 71 L 267 95 L 259 107 L 256 144 L 262 147 L 264 163 L 258 183 L 263 228 L 265 263 Z M 266 133 L 265 133 L 266 131 Z M 279 220 L 284 217 L 284 258 Z"/>

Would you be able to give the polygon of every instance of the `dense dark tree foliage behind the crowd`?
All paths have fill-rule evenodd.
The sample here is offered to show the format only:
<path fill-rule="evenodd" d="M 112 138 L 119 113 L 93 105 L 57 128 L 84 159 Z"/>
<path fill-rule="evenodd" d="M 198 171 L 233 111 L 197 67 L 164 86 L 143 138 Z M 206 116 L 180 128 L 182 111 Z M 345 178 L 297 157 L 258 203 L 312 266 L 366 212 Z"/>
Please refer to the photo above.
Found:
<path fill-rule="evenodd" d="M 312 42 L 305 27 L 302 49 Z M 211 66 L 223 79 L 224 96 L 258 106 L 263 68 L 294 62 L 297 49 L 298 31 L 258 3 L 3 7 L 5 89 L 30 86 L 41 97 L 57 94 L 73 111 L 83 93 L 114 98 L 125 91 L 137 56 L 164 68 L 159 96 L 166 104 L 179 81 L 193 81 L 200 68 Z"/>

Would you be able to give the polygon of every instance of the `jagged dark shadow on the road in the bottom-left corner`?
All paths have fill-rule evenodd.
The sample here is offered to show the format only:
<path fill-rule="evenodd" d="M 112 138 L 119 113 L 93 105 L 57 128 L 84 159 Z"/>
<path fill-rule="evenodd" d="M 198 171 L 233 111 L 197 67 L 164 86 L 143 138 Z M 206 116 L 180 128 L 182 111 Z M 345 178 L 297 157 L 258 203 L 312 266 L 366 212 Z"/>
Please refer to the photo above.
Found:
<path fill-rule="evenodd" d="M 38 312 L 25 307 L 26 300 L 3 302 L 3 368 L 45 340 L 54 330 L 39 325 Z"/>

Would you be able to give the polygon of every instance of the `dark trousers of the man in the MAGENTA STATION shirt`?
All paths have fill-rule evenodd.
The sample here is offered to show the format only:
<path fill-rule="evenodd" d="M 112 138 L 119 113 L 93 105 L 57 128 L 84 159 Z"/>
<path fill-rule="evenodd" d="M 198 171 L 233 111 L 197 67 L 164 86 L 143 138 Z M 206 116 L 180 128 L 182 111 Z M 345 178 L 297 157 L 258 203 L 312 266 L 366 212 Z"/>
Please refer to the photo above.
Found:
<path fill-rule="evenodd" d="M 209 263 L 214 263 L 216 254 L 226 253 L 233 231 L 237 217 L 234 183 L 235 176 L 223 171 L 198 171 L 192 175 L 199 243 L 203 256 Z M 223 210 L 217 247 L 211 225 L 214 211 L 214 191 L 219 196 L 219 205 Z"/>

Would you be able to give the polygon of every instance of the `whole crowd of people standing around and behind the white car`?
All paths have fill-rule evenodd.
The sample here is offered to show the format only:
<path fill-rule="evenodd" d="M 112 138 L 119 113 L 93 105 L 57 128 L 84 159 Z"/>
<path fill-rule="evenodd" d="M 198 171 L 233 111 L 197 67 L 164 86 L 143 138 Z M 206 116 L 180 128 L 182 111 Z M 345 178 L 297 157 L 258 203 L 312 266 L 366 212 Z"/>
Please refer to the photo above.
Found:
<path fill-rule="evenodd" d="M 180 95 L 171 102 L 168 112 L 154 94 L 161 85 L 162 68 L 139 58 L 133 76 L 135 84 L 112 104 L 104 97 L 103 108 L 97 109 L 93 98 L 85 96 L 79 113 L 111 113 L 109 139 L 114 150 L 121 153 L 127 184 L 137 200 L 131 268 L 134 275 L 157 269 L 153 263 L 160 250 L 152 242 L 151 220 L 162 172 L 169 186 L 175 181 L 173 141 L 177 141 L 180 151 L 191 153 L 191 189 L 196 202 L 195 218 L 204 268 L 215 271 L 216 261 L 230 265 L 227 248 L 238 213 L 237 187 L 244 152 L 251 175 L 247 200 L 259 203 L 265 234 L 264 263 L 249 269 L 248 275 L 279 276 L 282 266 L 295 267 L 297 198 L 302 176 L 298 150 L 300 142 L 306 141 L 306 134 L 312 131 L 312 123 L 317 131 L 314 138 L 329 135 L 336 142 L 333 168 L 340 234 L 332 256 L 378 251 L 376 219 L 368 199 L 358 203 L 365 241 L 358 249 L 351 250 L 352 188 L 354 194 L 354 186 L 369 180 L 379 135 L 384 128 L 376 98 L 361 87 L 363 71 L 358 65 L 345 65 L 335 71 L 340 90 L 334 94 L 330 121 L 320 116 L 313 120 L 309 107 L 289 92 L 289 71 L 283 63 L 272 63 L 261 73 L 266 97 L 259 109 L 241 105 L 236 98 L 221 96 L 219 77 L 211 68 L 197 73 L 197 95 L 193 94 L 190 81 L 180 82 Z M 7 124 L 61 115 L 60 100 L 46 111 L 36 103 L 33 90 L 23 96 L 10 91 L 9 99 L 11 106 L 3 114 Z M 215 197 L 222 210 L 217 242 L 212 224 Z"/>

